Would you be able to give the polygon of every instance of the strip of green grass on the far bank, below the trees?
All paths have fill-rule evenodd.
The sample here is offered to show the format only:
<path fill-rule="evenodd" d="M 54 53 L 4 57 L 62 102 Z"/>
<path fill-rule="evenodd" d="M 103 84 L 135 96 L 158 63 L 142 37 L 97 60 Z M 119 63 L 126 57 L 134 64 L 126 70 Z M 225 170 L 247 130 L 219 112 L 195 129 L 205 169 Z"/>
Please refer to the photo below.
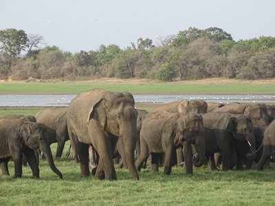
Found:
<path fill-rule="evenodd" d="M 77 94 L 93 88 L 109 91 L 129 91 L 133 94 L 188 94 L 188 93 L 274 93 L 275 84 L 237 81 L 217 82 L 0 82 L 0 94 L 63 93 Z"/>

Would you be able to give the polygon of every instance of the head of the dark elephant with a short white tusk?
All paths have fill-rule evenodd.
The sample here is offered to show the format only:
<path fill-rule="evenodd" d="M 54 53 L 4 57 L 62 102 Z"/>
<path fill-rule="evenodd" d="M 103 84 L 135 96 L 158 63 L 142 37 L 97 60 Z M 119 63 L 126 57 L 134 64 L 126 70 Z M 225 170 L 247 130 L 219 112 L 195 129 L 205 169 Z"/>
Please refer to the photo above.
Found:
<path fill-rule="evenodd" d="M 247 141 L 250 152 L 254 152 L 256 150 L 256 140 L 251 118 L 248 115 L 233 116 L 228 119 L 226 129 L 232 133 L 234 139 Z M 250 156 L 250 159 L 254 159 L 255 157 L 256 155 Z"/>

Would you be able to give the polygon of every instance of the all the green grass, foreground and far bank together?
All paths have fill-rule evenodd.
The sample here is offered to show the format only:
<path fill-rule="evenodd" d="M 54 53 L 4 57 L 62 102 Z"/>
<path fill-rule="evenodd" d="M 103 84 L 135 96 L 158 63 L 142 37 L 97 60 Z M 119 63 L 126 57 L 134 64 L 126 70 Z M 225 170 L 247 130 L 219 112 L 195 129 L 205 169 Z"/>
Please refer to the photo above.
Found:
<path fill-rule="evenodd" d="M 234 84 L 233 84 L 234 83 Z M 132 93 L 274 93 L 274 81 L 267 82 L 0 82 L 2 93 L 79 93 L 92 87 Z M 180 92 L 181 91 L 181 92 Z M 150 111 L 153 104 L 137 104 Z M 3 107 L 0 116 L 8 114 L 35 115 L 43 108 Z M 192 176 L 184 168 L 174 167 L 170 176 L 142 170 L 140 181 L 133 181 L 128 170 L 116 168 L 118 181 L 96 181 L 92 176 L 80 178 L 79 165 L 63 157 L 56 166 L 63 173 L 58 180 L 41 160 L 41 179 L 32 179 L 29 167 L 23 168 L 22 179 L 0 174 L 0 205 L 274 205 L 275 163 L 262 172 L 214 171 L 206 166 L 195 168 Z M 52 144 L 55 154 L 56 144 Z"/>

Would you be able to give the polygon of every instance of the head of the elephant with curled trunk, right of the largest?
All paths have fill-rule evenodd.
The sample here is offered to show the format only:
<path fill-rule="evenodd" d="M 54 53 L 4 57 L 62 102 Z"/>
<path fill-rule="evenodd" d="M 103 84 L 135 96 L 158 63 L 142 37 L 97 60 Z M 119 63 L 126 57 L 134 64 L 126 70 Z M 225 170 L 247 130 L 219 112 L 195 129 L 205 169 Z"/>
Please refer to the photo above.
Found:
<path fill-rule="evenodd" d="M 176 121 L 175 144 L 195 144 L 197 154 L 193 157 L 196 167 L 203 165 L 206 155 L 206 142 L 204 139 L 203 119 L 201 115 L 181 115 Z"/>

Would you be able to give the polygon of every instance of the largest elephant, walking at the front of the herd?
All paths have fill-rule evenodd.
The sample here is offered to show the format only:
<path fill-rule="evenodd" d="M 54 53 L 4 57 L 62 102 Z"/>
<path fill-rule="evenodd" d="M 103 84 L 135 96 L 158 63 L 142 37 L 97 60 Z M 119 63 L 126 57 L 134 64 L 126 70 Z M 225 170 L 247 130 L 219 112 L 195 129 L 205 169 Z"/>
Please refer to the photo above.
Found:
<path fill-rule="evenodd" d="M 95 179 L 115 180 L 113 151 L 120 137 L 125 146 L 126 163 L 133 179 L 139 179 L 134 164 L 137 141 L 137 112 L 133 95 L 92 89 L 80 93 L 67 109 L 67 126 L 72 148 L 80 162 L 82 176 L 89 176 L 89 145 L 95 148 L 98 167 Z"/>

